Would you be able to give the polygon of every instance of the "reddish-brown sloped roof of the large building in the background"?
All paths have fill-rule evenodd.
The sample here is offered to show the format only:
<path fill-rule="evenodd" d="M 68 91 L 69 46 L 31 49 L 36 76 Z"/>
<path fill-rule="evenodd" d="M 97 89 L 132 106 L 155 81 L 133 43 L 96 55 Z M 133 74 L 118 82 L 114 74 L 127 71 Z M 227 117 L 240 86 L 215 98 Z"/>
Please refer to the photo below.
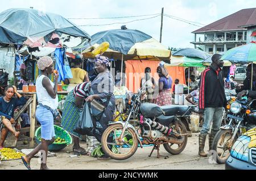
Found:
<path fill-rule="evenodd" d="M 240 10 L 192 33 L 245 30 L 245 27 L 252 24 L 256 24 L 256 8 Z"/>

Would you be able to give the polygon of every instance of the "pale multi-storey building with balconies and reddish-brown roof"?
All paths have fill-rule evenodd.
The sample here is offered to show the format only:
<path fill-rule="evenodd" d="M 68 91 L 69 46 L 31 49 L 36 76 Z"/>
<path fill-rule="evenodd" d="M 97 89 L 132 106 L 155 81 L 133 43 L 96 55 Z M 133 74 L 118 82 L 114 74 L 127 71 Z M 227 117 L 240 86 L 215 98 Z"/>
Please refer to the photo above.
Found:
<path fill-rule="evenodd" d="M 256 8 L 240 10 L 192 33 L 195 48 L 210 54 L 256 41 Z"/>

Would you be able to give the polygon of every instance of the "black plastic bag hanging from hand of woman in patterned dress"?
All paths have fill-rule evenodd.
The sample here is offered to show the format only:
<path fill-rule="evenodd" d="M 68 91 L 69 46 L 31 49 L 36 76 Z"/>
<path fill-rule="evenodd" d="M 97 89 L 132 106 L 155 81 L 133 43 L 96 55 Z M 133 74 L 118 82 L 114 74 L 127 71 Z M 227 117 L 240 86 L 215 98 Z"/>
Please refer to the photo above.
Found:
<path fill-rule="evenodd" d="M 80 111 L 79 121 L 77 121 L 73 131 L 81 135 L 93 136 L 93 120 L 87 102 L 84 105 L 84 109 Z"/>

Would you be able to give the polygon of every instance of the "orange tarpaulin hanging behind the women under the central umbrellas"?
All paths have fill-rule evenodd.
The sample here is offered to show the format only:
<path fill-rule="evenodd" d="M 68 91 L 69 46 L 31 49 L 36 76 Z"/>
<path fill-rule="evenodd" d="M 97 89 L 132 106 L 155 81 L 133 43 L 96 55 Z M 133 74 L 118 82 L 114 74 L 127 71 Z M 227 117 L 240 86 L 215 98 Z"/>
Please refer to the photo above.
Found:
<path fill-rule="evenodd" d="M 151 60 L 127 60 L 126 65 L 126 87 L 132 92 L 138 92 L 141 88 L 141 78 L 144 77 L 144 70 L 147 67 L 151 68 L 151 76 L 158 82 L 159 76 L 156 73 L 156 68 L 158 68 L 160 61 Z M 174 85 L 175 79 L 179 79 L 181 84 L 185 84 L 185 71 L 183 67 L 169 66 L 166 67 L 169 75 L 172 77 Z"/>

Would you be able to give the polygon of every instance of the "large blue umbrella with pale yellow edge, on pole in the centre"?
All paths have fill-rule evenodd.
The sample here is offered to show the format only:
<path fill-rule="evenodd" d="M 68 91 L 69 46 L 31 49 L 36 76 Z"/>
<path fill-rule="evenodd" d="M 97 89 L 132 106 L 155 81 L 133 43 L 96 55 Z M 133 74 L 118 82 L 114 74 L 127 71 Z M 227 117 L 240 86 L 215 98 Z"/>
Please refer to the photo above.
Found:
<path fill-rule="evenodd" d="M 73 49 L 73 53 L 82 53 L 86 57 L 89 52 L 103 42 L 109 43 L 109 49 L 104 56 L 123 61 L 132 59 L 170 60 L 171 51 L 159 41 L 138 30 L 108 30 L 92 35 L 90 43 L 84 43 Z M 87 53 L 87 54 L 86 54 Z M 122 74 L 121 74 L 122 82 Z"/>

